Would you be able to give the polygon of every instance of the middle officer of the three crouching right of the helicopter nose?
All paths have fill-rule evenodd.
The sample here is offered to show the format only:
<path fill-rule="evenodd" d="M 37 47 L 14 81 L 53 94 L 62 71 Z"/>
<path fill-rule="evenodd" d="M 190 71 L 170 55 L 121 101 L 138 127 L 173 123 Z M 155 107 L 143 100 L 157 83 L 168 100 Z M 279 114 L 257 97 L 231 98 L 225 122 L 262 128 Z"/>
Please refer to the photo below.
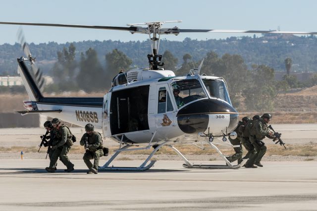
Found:
<path fill-rule="evenodd" d="M 256 154 L 257 151 L 254 148 L 254 146 L 252 145 L 252 143 L 250 142 L 249 136 L 250 136 L 250 130 L 253 126 L 254 121 L 257 121 L 261 118 L 260 115 L 255 115 L 252 117 L 252 119 L 250 119 L 244 128 L 242 128 L 242 138 L 241 138 L 241 144 L 246 148 L 246 150 L 248 151 L 247 155 L 243 158 L 249 158 L 249 160 L 246 162 L 246 164 L 244 165 L 244 167 L 246 168 L 257 168 L 257 165 L 254 165 L 254 159 L 256 158 Z"/>

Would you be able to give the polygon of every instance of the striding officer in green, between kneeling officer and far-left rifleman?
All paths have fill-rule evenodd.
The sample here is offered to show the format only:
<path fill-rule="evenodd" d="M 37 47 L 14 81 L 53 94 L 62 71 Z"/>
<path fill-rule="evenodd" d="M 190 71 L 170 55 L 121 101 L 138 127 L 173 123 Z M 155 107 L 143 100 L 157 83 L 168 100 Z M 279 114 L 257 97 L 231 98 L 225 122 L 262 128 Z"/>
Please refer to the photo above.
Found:
<path fill-rule="evenodd" d="M 73 146 L 73 142 L 71 140 L 72 135 L 69 128 L 66 125 L 61 124 L 60 121 L 61 120 L 58 118 L 52 119 L 55 137 L 52 147 L 54 152 L 50 161 L 50 166 L 45 168 L 48 172 L 52 173 L 55 172 L 54 165 L 58 157 L 60 157 L 62 163 L 66 165 L 67 169 L 65 169 L 65 171 L 71 172 L 74 170 L 74 164 L 70 162 L 67 157 L 67 153 L 69 152 L 71 146 Z"/>

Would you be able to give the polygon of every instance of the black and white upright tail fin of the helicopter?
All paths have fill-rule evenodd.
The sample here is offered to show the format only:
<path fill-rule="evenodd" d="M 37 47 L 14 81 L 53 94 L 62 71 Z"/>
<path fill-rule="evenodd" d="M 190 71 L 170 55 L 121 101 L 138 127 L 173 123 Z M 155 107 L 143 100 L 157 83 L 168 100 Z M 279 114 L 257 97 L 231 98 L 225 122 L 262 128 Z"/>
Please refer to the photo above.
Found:
<path fill-rule="evenodd" d="M 28 93 L 29 100 L 38 102 L 43 98 L 43 95 L 38 87 L 38 84 L 36 83 L 36 80 L 29 72 L 24 60 L 25 59 L 23 58 L 23 56 L 17 59 L 19 64 L 18 72 L 22 78 L 26 92 Z"/>

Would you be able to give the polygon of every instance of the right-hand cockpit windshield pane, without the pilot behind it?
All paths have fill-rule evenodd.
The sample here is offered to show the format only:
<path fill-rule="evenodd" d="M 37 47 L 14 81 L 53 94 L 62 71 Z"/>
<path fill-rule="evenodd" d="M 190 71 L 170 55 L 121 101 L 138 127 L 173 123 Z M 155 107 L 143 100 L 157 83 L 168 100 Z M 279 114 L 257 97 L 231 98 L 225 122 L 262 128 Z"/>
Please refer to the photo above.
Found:
<path fill-rule="evenodd" d="M 228 102 L 230 105 L 232 105 L 229 98 L 228 90 L 226 88 L 224 81 L 219 79 L 206 79 L 206 78 L 202 80 L 209 94 L 211 95 L 211 97 L 219 98 L 221 100 Z"/>

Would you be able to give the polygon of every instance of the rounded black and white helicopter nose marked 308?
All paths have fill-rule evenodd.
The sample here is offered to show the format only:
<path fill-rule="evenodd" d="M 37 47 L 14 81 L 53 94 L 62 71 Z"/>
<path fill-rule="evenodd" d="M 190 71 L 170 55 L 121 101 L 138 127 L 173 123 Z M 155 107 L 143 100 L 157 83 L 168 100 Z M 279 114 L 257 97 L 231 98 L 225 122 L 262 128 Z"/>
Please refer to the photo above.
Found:
<path fill-rule="evenodd" d="M 187 134 L 232 132 L 238 124 L 236 109 L 218 99 L 203 99 L 182 107 L 177 115 L 178 127 Z M 222 131 L 222 132 L 220 132 Z"/>

